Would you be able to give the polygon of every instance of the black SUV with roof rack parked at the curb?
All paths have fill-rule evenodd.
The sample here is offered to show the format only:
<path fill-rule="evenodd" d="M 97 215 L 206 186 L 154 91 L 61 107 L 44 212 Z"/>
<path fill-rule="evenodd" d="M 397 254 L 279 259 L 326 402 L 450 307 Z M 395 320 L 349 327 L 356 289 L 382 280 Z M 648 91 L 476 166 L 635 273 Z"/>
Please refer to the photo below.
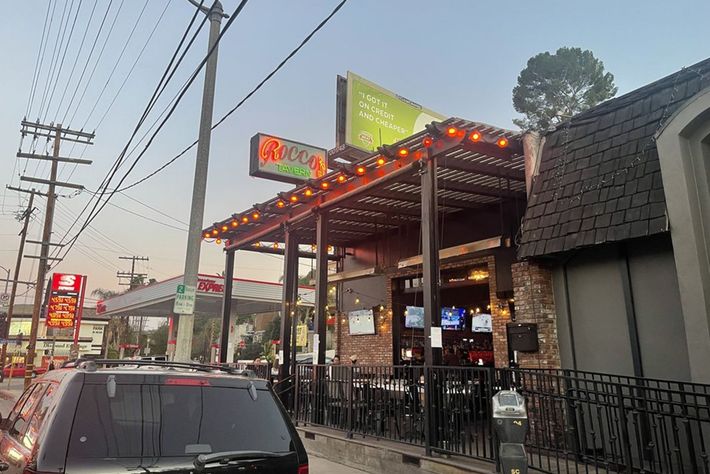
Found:
<path fill-rule="evenodd" d="M 2 418 L 0 471 L 307 474 L 269 383 L 228 370 L 147 361 L 52 370 Z"/>

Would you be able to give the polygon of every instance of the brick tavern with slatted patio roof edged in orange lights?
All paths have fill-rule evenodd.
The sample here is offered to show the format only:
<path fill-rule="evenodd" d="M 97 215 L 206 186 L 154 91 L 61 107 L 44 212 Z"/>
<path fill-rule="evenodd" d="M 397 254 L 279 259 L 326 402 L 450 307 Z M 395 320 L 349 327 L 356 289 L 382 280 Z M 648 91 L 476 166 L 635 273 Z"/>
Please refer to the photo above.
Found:
<path fill-rule="evenodd" d="M 517 349 L 531 351 L 526 362 L 554 366 L 554 325 L 520 322 L 532 319 L 531 295 L 521 289 L 537 269 L 515 263 L 526 163 L 538 142 L 479 122 L 433 122 L 216 222 L 203 237 L 225 245 L 228 277 L 236 250 L 286 256 L 282 341 L 291 338 L 300 256 L 316 260 L 316 333 L 325 340 L 335 315 L 342 359 L 441 363 L 442 349 L 456 348 L 471 364 L 508 366 Z M 328 305 L 333 292 L 337 304 Z"/>

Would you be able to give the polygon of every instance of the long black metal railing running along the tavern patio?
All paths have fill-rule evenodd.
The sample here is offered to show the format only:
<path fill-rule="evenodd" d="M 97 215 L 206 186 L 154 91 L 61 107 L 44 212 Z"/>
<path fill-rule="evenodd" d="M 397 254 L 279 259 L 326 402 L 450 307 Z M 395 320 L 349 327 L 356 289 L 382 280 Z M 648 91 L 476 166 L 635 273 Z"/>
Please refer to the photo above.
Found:
<path fill-rule="evenodd" d="M 494 461 L 490 400 L 526 398 L 529 465 L 549 473 L 710 474 L 710 385 L 571 370 L 299 365 L 297 423 Z"/>

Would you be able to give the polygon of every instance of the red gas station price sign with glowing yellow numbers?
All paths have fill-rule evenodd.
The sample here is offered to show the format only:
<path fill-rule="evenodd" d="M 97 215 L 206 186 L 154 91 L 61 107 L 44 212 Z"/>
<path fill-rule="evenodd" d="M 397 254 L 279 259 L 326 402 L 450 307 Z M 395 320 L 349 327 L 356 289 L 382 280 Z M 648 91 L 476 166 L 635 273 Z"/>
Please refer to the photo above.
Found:
<path fill-rule="evenodd" d="M 47 327 L 72 328 L 83 305 L 83 286 L 86 277 L 69 273 L 55 273 L 47 305 Z"/>

